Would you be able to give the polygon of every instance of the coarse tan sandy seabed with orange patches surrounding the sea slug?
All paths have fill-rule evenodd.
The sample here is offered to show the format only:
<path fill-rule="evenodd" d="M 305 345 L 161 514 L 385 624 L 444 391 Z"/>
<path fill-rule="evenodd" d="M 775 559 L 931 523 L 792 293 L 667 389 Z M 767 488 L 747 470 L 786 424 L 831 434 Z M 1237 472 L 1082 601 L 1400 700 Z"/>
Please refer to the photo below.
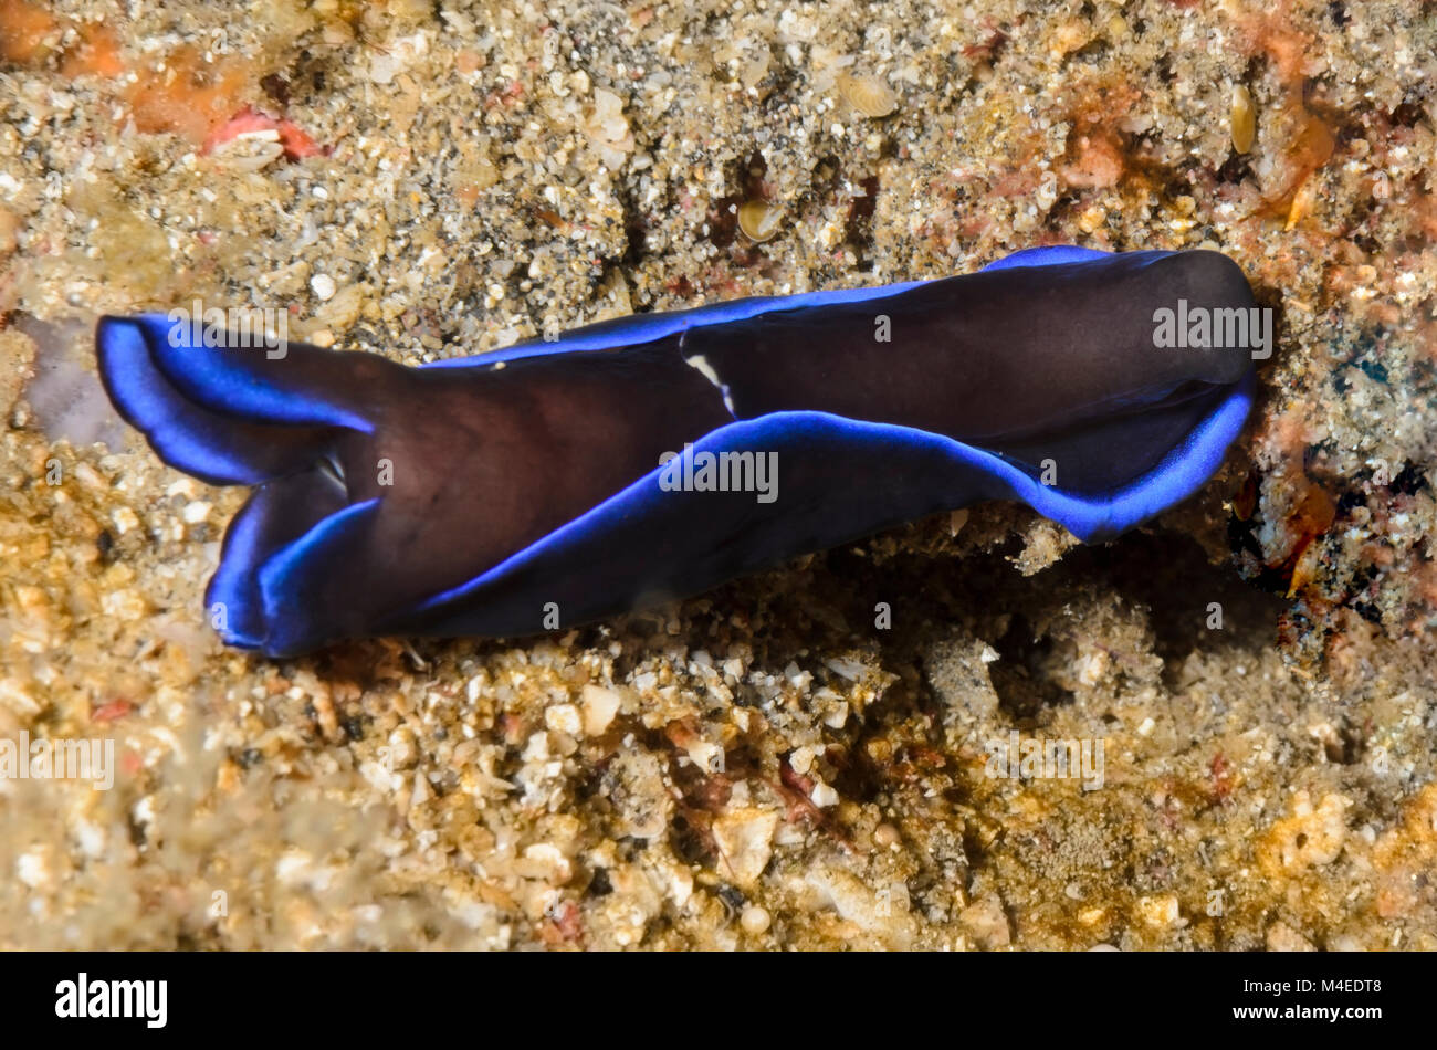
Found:
<path fill-rule="evenodd" d="M 0 947 L 1437 947 L 1431 4 L 114 7 L 0 0 L 0 738 L 114 751 L 0 783 Z M 224 649 L 243 493 L 91 343 L 200 299 L 418 363 L 1050 243 L 1277 312 L 1193 500 L 542 641 Z"/>

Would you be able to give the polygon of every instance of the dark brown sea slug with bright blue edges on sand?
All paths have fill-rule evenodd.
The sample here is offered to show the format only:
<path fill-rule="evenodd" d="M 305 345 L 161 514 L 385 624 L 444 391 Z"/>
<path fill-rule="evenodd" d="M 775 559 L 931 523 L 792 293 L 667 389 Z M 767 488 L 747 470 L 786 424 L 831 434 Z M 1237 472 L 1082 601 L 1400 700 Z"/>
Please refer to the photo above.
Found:
<path fill-rule="evenodd" d="M 1256 315 L 1224 256 L 1053 247 L 424 368 L 205 346 L 164 315 L 96 345 L 165 463 L 256 485 L 207 603 L 228 644 L 289 655 L 568 628 L 977 500 L 1112 536 L 1217 468 Z M 1174 316 L 1206 320 L 1174 339 Z"/>

